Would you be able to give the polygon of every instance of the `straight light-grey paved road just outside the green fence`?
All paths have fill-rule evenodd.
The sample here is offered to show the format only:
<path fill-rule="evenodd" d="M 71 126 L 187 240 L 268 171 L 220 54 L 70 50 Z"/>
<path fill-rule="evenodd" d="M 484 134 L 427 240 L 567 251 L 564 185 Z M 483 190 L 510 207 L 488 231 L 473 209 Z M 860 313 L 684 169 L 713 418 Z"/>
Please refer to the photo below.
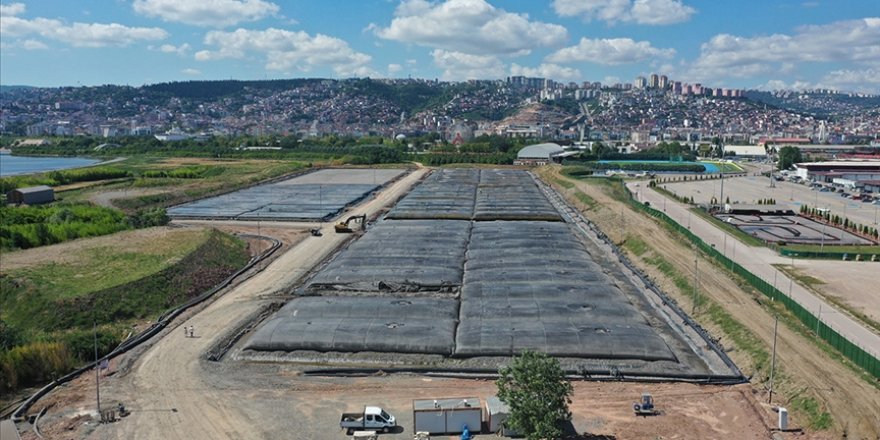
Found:
<path fill-rule="evenodd" d="M 639 185 L 639 186 L 637 186 Z M 777 270 L 772 264 L 793 264 L 794 260 L 783 258 L 775 252 L 764 247 L 750 247 L 737 241 L 733 236 L 718 229 L 708 221 L 694 215 L 688 210 L 688 206 L 667 199 L 662 194 L 644 188 L 644 182 L 628 183 L 630 191 L 636 194 L 640 202 L 648 201 L 657 209 L 665 210 L 666 215 L 682 226 L 688 227 L 691 232 L 702 238 L 703 241 L 715 246 L 722 253 L 750 272 L 770 284 L 775 285 L 780 291 L 788 293 L 801 306 L 818 315 L 819 319 L 838 333 L 854 342 L 865 351 L 880 357 L 880 335 L 853 320 L 800 284 L 789 279 L 783 272 Z M 876 288 L 876 286 L 865 286 Z"/>

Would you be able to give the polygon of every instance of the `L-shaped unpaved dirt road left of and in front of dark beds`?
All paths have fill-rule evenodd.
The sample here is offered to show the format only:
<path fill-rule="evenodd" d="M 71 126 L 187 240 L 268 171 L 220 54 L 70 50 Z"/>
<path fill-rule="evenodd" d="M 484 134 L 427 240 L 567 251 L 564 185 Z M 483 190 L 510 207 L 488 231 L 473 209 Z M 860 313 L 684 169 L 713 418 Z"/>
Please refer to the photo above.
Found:
<path fill-rule="evenodd" d="M 408 176 L 383 191 L 378 200 L 354 211 L 376 212 L 417 177 Z M 248 225 L 248 232 L 253 232 L 253 227 Z M 265 223 L 262 227 L 283 228 Z M 345 239 L 328 227 L 324 232 L 321 238 L 306 236 L 267 270 L 204 310 L 182 318 L 178 327 L 134 356 L 130 368 L 103 379 L 105 407 L 124 402 L 132 411 L 128 417 L 109 425 L 87 422 L 88 417 L 82 415 L 93 411 L 95 403 L 92 375 L 81 376 L 41 401 L 41 405 L 53 405 L 41 424 L 46 438 L 341 440 L 348 438 L 338 428 L 342 411 L 378 404 L 395 414 L 401 424 L 397 432 L 382 438 L 408 439 L 412 438 L 412 399 L 485 398 L 495 393 L 494 384 L 486 380 L 405 374 L 311 377 L 302 375 L 301 366 L 283 363 L 204 360 L 204 352 L 219 334 L 268 302 L 261 297 L 272 297 L 272 292 L 294 282 Z M 190 325 L 195 327 L 197 338 L 184 337 L 182 326 Z M 603 436 L 595 438 L 766 439 L 773 423 L 773 415 L 761 408 L 748 385 L 575 382 L 574 389 L 573 429 Z M 637 418 L 632 414 L 632 402 L 645 391 L 654 394 L 662 416 Z"/>

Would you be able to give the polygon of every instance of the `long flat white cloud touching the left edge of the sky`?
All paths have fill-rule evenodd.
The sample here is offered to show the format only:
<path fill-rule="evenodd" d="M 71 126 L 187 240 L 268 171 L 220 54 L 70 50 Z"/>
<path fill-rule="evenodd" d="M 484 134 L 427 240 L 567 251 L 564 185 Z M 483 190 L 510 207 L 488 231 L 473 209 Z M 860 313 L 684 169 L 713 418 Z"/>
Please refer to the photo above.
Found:
<path fill-rule="evenodd" d="M 0 16 L 4 37 L 40 35 L 76 47 L 128 46 L 134 42 L 162 40 L 168 33 L 160 28 L 129 27 L 118 23 L 73 23 L 35 18 L 27 20 Z"/>

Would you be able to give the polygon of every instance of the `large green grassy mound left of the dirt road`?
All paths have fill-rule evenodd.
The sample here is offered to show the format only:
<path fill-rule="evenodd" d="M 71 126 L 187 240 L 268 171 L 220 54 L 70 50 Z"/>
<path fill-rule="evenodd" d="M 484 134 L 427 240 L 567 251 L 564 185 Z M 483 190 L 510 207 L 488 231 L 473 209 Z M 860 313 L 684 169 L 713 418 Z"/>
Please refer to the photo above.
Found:
<path fill-rule="evenodd" d="M 153 228 L 4 254 L 0 393 L 37 385 L 106 353 L 144 320 L 246 264 L 240 240 Z"/>

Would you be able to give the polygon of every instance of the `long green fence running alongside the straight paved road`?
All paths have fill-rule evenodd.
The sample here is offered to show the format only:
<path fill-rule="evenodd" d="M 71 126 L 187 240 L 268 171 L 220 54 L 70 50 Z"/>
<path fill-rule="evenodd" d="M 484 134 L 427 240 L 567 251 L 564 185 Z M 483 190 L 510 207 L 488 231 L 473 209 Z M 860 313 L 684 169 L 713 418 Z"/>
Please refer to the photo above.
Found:
<path fill-rule="evenodd" d="M 746 268 L 737 264 L 735 261 L 727 258 L 726 256 L 724 256 L 724 254 L 717 251 L 714 247 L 703 241 L 700 237 L 697 237 L 689 229 L 678 224 L 675 220 L 673 220 L 663 212 L 636 201 L 632 197 L 632 193 L 629 191 L 629 188 L 626 188 L 626 185 L 623 184 L 623 182 L 621 182 L 621 185 L 624 186 L 624 190 L 629 195 L 627 201 L 632 206 L 644 211 L 652 217 L 656 217 L 664 221 L 667 225 L 687 237 L 688 240 L 691 241 L 691 243 L 693 243 L 700 250 L 705 252 L 706 255 L 714 258 L 725 267 L 730 268 L 731 272 L 741 276 L 743 279 L 746 280 L 746 282 L 749 283 L 749 285 L 754 287 L 756 290 L 763 293 L 765 296 L 771 298 L 774 301 L 781 302 L 785 306 L 785 308 L 791 311 L 791 313 L 796 316 L 805 326 L 807 326 L 807 328 L 815 329 L 820 338 L 828 342 L 828 344 L 834 347 L 847 359 L 851 360 L 859 367 L 864 368 L 865 371 L 873 375 L 875 378 L 880 378 L 880 360 L 871 355 L 871 353 L 868 353 L 863 348 L 841 336 L 840 333 L 838 333 L 830 326 L 826 325 L 824 322 L 821 322 L 810 311 L 806 310 L 803 306 L 779 291 L 779 289 L 777 289 L 770 283 L 762 280 L 761 278 L 755 276 L 753 273 L 749 272 L 748 270 L 746 270 Z"/>

